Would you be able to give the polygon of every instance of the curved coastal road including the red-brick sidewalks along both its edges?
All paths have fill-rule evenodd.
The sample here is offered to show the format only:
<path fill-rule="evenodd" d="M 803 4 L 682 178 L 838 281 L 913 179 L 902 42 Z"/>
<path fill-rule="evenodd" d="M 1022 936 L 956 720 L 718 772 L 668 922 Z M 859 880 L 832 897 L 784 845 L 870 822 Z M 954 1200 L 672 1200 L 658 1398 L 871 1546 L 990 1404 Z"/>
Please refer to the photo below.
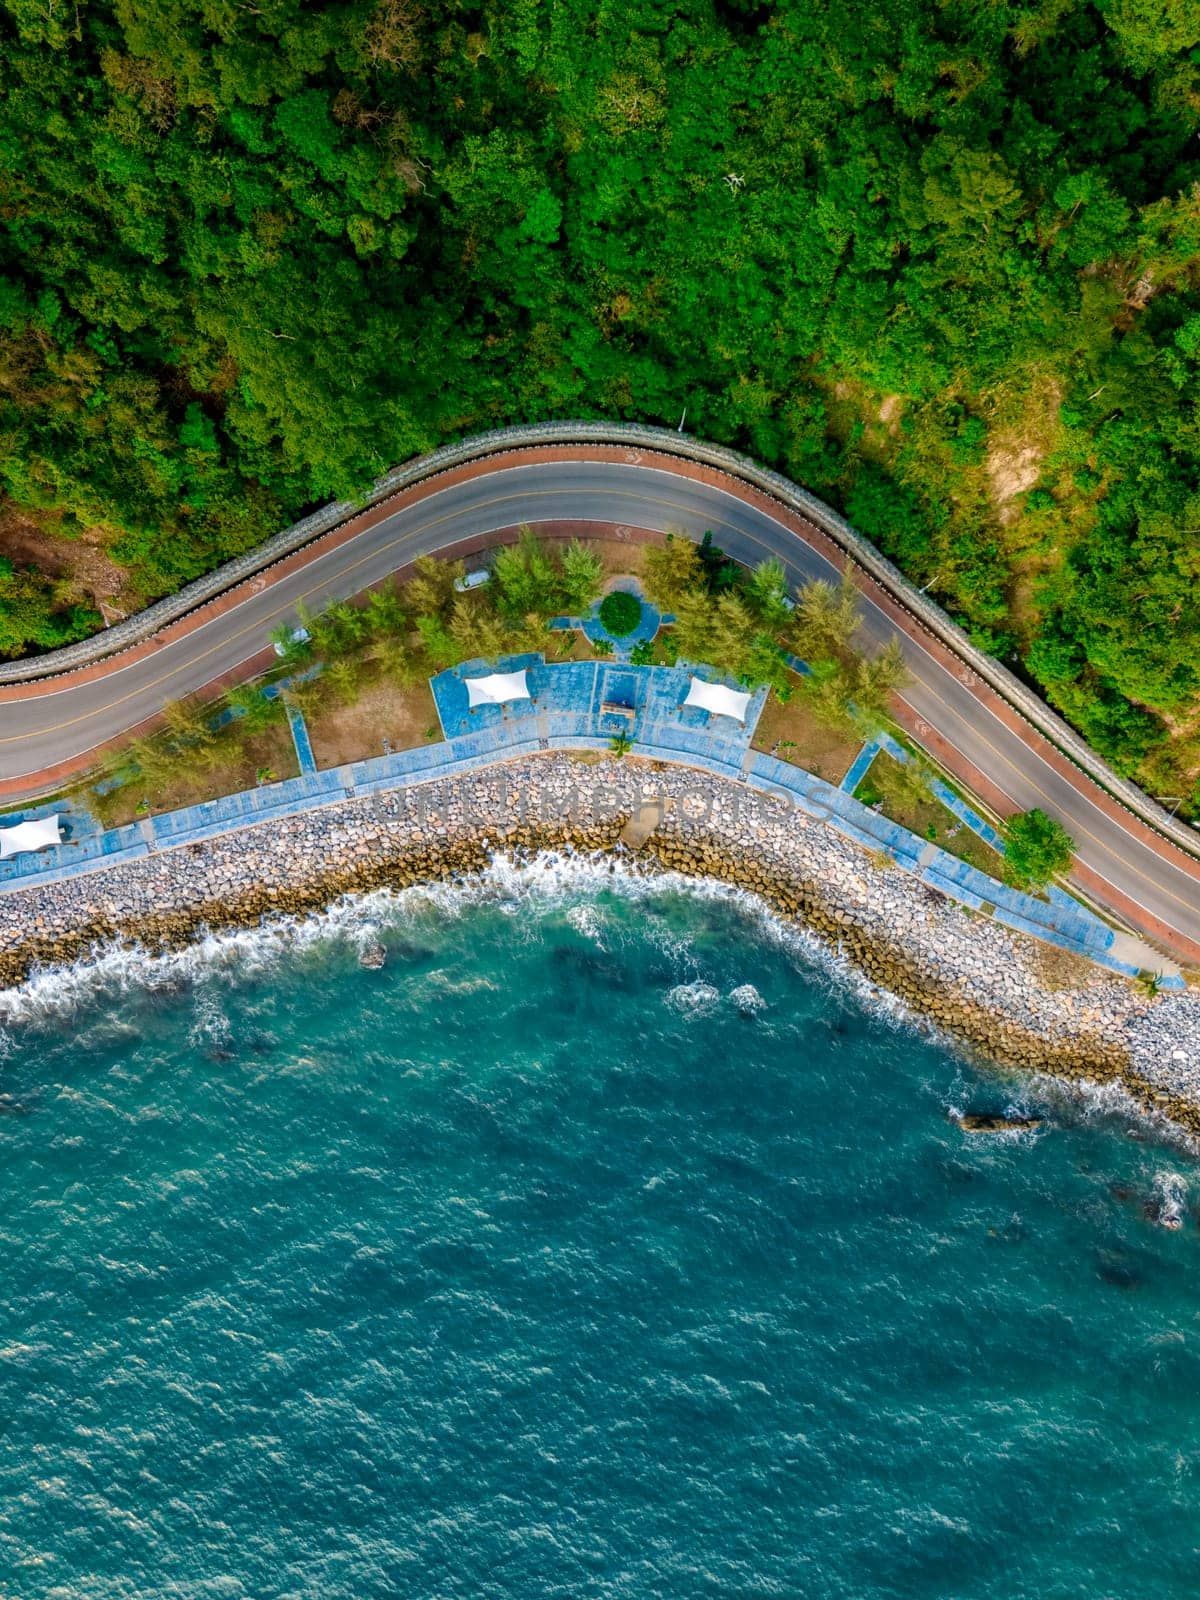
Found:
<path fill-rule="evenodd" d="M 778 557 L 792 582 L 835 579 L 845 565 L 827 534 L 717 467 L 616 445 L 496 453 L 371 507 L 146 645 L 61 678 L 0 690 L 0 794 L 45 792 L 82 770 L 98 746 L 154 718 L 166 699 L 270 664 L 269 632 L 299 600 L 320 606 L 424 552 L 467 555 L 514 538 L 522 523 L 624 539 L 712 530 L 739 562 Z M 997 814 L 1040 806 L 1059 818 L 1077 842 L 1083 888 L 1200 963 L 1200 861 L 1086 778 L 880 582 L 856 578 L 864 643 L 898 632 L 904 645 L 904 726 Z"/>

